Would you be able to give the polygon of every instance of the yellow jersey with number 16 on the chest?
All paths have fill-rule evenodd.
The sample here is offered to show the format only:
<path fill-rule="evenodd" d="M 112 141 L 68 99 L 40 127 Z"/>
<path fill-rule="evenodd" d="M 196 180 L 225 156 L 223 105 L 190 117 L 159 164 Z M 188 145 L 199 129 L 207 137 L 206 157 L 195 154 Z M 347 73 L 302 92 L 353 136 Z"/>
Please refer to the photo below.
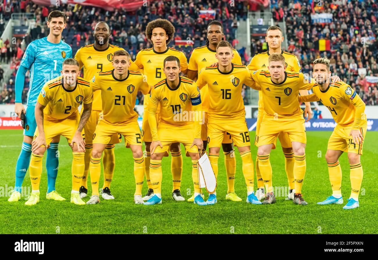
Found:
<path fill-rule="evenodd" d="M 218 66 L 206 67 L 198 74 L 197 85 L 201 88 L 206 84 L 209 87 L 209 120 L 245 120 L 242 86 L 255 84 L 246 66 L 232 63 L 228 73 L 222 73 Z"/>

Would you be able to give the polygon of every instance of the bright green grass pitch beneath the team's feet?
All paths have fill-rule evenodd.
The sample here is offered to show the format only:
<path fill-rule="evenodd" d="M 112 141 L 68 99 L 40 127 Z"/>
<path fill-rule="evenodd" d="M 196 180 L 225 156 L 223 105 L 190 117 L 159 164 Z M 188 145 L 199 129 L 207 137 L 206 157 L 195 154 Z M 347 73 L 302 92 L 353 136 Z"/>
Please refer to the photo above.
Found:
<path fill-rule="evenodd" d="M 359 197 L 360 207 L 343 210 L 350 195 L 349 163 L 347 155 L 340 158 L 343 172 L 343 205 L 320 206 L 316 203 L 332 194 L 328 179 L 327 164 L 324 156 L 331 132 L 307 132 L 306 161 L 307 172 L 304 180 L 303 195 L 309 203 L 298 206 L 285 197 L 278 197 L 273 205 L 251 205 L 245 202 L 246 187 L 242 174 L 242 162 L 236 152 L 237 172 L 235 191 L 242 202 L 226 201 L 226 174 L 223 154 L 219 158 L 217 198 L 214 206 L 198 206 L 187 201 L 177 202 L 172 199 L 172 175 L 170 158 L 164 158 L 163 167 L 163 204 L 155 206 L 135 205 L 133 160 L 130 149 L 125 149 L 124 142 L 116 145 L 116 168 L 111 186 L 114 201 L 101 199 L 100 204 L 76 206 L 70 203 L 71 192 L 71 149 L 65 138 L 59 144 L 59 172 L 56 189 L 67 201 L 46 200 L 47 177 L 45 158 L 43 160 L 40 202 L 36 206 L 25 206 L 22 197 L 17 203 L 9 203 L 4 190 L 14 186 L 14 171 L 22 143 L 22 130 L 1 130 L 1 168 L 0 168 L 0 233 L 16 234 L 113 234 L 113 233 L 216 233 L 216 234 L 333 234 L 333 233 L 378 233 L 378 176 L 377 161 L 378 132 L 368 132 L 364 143 L 364 155 L 361 163 L 364 180 Z M 251 140 L 254 132 L 250 133 Z M 257 148 L 251 146 L 253 159 Z M 184 157 L 181 193 L 187 199 L 193 189 L 191 160 Z M 282 150 L 271 152 L 273 167 L 273 185 L 287 186 L 284 157 Z M 100 179 L 102 187 L 103 179 Z M 90 182 L 89 192 L 91 191 Z M 23 186 L 30 187 L 29 171 Z M 256 176 L 255 176 L 256 189 Z M 31 190 L 31 187 L 30 187 Z M 143 193 L 147 191 L 145 182 Z M 283 193 L 283 192 L 282 192 Z M 89 194 L 90 195 L 90 194 Z M 143 194 L 144 195 L 144 194 Z M 205 193 L 206 199 L 208 195 Z M 88 197 L 84 198 L 89 200 Z"/>

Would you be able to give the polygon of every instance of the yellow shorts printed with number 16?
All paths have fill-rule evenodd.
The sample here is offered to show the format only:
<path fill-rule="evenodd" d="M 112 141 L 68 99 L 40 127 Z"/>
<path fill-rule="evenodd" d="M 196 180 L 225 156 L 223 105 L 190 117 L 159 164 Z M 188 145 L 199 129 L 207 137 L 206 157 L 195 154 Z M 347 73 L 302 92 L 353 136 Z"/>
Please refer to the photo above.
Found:
<path fill-rule="evenodd" d="M 215 120 L 208 123 L 209 148 L 220 147 L 225 134 L 237 147 L 250 146 L 249 131 L 245 120 Z"/>

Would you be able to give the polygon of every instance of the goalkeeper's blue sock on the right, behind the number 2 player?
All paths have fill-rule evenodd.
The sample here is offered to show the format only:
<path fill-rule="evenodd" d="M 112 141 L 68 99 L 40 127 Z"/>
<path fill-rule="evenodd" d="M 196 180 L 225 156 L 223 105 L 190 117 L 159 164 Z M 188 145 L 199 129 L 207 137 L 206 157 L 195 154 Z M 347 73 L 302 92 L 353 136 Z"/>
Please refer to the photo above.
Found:
<path fill-rule="evenodd" d="M 59 156 L 58 156 L 58 144 L 57 142 L 50 143 L 50 147 L 47 149 L 46 157 L 46 170 L 47 170 L 47 193 L 52 192 L 55 189 L 56 176 L 58 174 Z"/>

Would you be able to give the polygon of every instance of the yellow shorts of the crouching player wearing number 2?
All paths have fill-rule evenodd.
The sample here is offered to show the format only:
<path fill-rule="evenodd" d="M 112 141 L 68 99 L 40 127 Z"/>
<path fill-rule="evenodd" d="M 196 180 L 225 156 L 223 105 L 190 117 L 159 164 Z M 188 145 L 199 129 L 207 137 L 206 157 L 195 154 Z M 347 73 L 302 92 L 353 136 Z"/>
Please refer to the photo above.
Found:
<path fill-rule="evenodd" d="M 77 130 L 77 127 L 79 126 L 80 122 L 80 115 L 77 114 L 77 116 L 66 118 L 66 119 L 60 119 L 60 120 L 50 120 L 50 119 L 43 119 L 43 129 L 45 130 L 45 139 L 47 146 L 50 145 L 51 140 L 55 136 L 61 135 L 67 138 L 68 143 L 70 144 L 72 141 L 72 138 Z M 34 132 L 34 139 L 37 138 L 39 135 L 38 128 L 36 128 L 36 132 Z M 82 132 L 82 136 L 84 138 L 84 131 Z M 87 142 L 87 140 L 85 140 Z"/>

